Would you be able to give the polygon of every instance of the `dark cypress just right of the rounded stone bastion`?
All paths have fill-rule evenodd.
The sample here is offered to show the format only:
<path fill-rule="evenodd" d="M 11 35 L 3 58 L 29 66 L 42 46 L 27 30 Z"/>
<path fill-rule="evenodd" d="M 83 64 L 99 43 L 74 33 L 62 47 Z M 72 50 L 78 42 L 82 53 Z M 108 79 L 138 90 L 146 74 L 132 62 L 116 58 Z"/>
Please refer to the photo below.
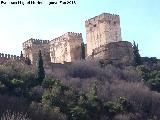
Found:
<path fill-rule="evenodd" d="M 138 44 L 136 45 L 135 41 L 133 43 L 133 55 L 134 55 L 134 65 L 138 66 L 141 64 L 141 56 L 138 50 Z"/>

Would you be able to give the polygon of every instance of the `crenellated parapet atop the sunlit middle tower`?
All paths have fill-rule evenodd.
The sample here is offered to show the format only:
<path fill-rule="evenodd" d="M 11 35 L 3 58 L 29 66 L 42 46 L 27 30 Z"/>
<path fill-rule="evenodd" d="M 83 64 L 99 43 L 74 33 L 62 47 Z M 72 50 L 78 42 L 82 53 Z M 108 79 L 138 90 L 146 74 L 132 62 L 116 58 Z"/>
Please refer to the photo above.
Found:
<path fill-rule="evenodd" d="M 51 40 L 50 43 L 52 44 L 52 43 L 55 43 L 55 42 L 68 40 L 70 37 L 82 39 L 82 33 L 67 32 L 67 33 L 61 35 L 60 37 L 57 37 L 57 38 Z"/>

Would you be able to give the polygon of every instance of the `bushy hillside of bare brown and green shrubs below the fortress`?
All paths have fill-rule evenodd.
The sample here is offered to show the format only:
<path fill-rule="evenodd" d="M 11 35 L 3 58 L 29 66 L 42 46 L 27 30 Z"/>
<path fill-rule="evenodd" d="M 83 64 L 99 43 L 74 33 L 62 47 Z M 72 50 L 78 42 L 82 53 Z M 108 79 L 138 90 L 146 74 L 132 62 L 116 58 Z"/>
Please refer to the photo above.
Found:
<path fill-rule="evenodd" d="M 2 120 L 159 120 L 159 92 L 156 58 L 136 66 L 90 60 L 44 68 L 40 51 L 37 68 L 0 65 Z"/>

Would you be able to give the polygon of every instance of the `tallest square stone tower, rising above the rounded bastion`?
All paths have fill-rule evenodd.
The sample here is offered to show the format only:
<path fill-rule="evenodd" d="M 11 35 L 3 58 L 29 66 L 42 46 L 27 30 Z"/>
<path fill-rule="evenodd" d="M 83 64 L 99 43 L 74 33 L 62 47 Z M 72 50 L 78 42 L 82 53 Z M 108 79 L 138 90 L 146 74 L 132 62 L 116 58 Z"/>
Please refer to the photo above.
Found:
<path fill-rule="evenodd" d="M 87 38 L 87 56 L 95 48 L 111 42 L 121 41 L 119 15 L 103 13 L 85 21 Z"/>

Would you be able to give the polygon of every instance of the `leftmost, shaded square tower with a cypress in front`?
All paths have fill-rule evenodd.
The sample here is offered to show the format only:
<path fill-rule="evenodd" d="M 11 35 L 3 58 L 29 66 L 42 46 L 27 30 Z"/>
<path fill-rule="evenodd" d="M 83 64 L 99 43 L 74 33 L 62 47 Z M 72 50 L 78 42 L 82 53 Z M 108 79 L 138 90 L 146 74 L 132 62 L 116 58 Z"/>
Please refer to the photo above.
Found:
<path fill-rule="evenodd" d="M 28 57 L 32 64 L 38 60 L 38 52 L 41 50 L 43 62 L 46 65 L 50 62 L 49 40 L 29 39 L 23 43 L 24 57 Z"/>

